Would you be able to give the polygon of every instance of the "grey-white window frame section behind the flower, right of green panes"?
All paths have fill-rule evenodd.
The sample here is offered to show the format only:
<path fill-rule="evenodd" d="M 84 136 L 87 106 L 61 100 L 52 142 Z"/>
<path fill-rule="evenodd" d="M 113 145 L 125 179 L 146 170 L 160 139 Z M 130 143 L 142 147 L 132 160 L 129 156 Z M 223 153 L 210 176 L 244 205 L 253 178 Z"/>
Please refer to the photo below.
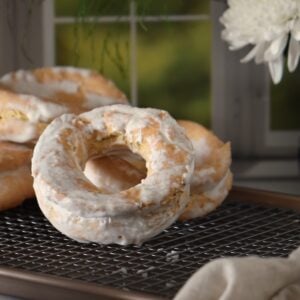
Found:
<path fill-rule="evenodd" d="M 234 144 L 237 157 L 296 159 L 300 131 L 270 129 L 271 81 L 265 65 L 242 64 L 249 51 L 229 51 L 221 39 L 226 0 L 212 0 L 213 130 Z M 237 84 L 238 82 L 238 84 Z"/>

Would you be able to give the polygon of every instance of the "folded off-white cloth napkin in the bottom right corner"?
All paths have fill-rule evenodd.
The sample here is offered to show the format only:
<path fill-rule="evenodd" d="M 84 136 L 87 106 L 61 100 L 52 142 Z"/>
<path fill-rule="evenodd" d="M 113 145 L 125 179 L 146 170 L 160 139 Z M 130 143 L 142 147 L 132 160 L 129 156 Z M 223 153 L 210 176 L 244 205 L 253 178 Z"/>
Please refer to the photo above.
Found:
<path fill-rule="evenodd" d="M 300 299 L 300 248 L 288 258 L 222 258 L 199 269 L 174 300 Z"/>

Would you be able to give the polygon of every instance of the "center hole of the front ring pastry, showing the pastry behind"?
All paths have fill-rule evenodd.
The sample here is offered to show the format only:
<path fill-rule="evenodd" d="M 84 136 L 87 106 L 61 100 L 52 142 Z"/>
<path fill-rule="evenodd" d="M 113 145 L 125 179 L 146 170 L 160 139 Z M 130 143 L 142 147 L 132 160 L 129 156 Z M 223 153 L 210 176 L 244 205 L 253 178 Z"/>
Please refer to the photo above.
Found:
<path fill-rule="evenodd" d="M 127 190 L 147 176 L 146 161 L 129 148 L 111 149 L 86 162 L 84 175 L 105 194 Z"/>

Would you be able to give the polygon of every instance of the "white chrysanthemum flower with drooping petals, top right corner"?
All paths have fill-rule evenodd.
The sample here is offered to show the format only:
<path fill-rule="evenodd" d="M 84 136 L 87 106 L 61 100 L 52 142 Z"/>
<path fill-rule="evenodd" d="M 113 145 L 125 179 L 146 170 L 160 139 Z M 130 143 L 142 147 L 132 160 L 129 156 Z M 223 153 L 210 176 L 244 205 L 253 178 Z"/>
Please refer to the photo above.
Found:
<path fill-rule="evenodd" d="M 283 74 L 283 53 L 288 47 L 288 69 L 293 72 L 300 57 L 300 0 L 228 0 L 220 21 L 222 38 L 231 50 L 248 44 L 253 49 L 242 62 L 252 58 L 267 62 L 274 83 Z"/>

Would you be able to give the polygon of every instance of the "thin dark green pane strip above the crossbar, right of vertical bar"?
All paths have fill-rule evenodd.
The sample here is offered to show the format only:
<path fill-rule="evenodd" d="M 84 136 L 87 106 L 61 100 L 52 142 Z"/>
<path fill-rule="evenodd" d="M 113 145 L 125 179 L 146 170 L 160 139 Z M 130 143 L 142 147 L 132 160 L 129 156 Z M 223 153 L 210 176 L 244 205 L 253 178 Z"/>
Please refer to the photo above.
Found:
<path fill-rule="evenodd" d="M 137 0 L 140 15 L 209 14 L 209 0 Z"/>

